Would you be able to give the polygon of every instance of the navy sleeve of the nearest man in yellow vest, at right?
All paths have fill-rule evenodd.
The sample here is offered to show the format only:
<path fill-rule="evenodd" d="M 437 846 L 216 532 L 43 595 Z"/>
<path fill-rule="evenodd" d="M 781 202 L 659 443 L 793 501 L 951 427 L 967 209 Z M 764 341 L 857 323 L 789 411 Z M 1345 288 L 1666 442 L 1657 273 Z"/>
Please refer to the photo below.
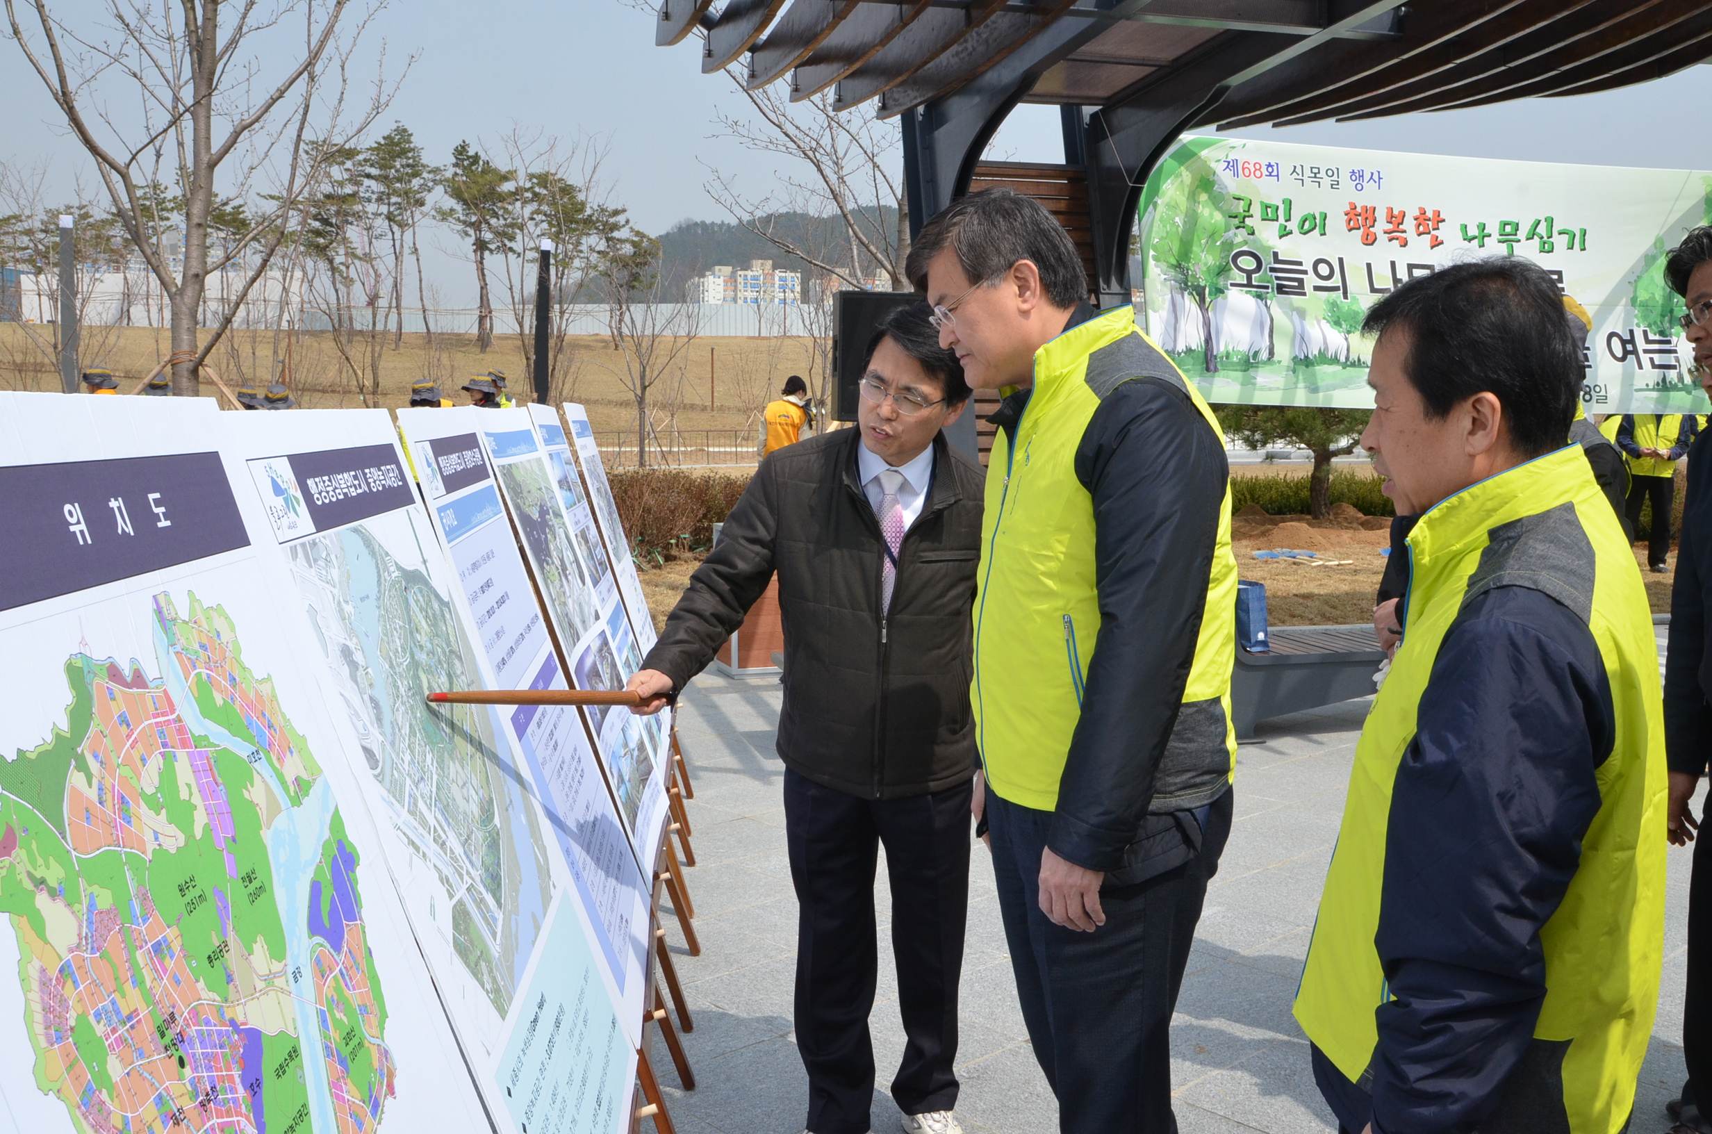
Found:
<path fill-rule="evenodd" d="M 1614 743 L 1592 632 L 1527 588 L 1476 596 L 1450 627 L 1392 788 L 1373 939 L 1373 1129 L 1471 1134 L 1546 999 L 1541 927 L 1599 812 Z"/>

